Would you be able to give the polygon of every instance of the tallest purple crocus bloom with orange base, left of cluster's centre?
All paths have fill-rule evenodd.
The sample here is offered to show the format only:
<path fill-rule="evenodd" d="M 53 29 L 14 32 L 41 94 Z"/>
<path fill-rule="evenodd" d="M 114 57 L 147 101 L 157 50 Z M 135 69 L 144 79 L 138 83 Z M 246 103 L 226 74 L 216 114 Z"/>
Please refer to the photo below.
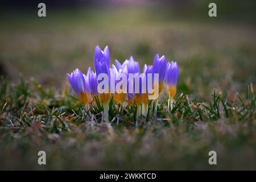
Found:
<path fill-rule="evenodd" d="M 101 73 L 105 73 L 110 78 L 109 72 L 109 65 L 110 65 L 110 54 L 109 54 L 109 47 L 106 46 L 104 51 L 101 51 L 99 46 L 96 46 L 95 54 L 94 54 L 94 68 L 96 72 L 96 76 L 100 75 Z M 104 105 L 108 105 L 110 92 L 108 93 L 101 93 L 100 94 L 101 101 L 104 102 Z"/>

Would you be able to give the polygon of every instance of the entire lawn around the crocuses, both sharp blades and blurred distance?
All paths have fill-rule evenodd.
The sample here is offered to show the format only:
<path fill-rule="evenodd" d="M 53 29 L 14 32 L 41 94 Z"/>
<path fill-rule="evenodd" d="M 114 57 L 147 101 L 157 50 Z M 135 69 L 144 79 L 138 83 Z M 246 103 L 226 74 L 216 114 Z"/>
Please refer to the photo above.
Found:
<path fill-rule="evenodd" d="M 170 12 L 8 15 L 0 30 L 0 169 L 255 170 L 255 26 L 221 13 L 212 20 Z M 133 55 L 142 68 L 156 53 L 177 61 L 173 109 L 162 92 L 157 117 L 150 105 L 138 126 L 135 106 L 119 112 L 110 103 L 110 123 L 98 105 L 85 111 L 66 74 L 93 66 L 97 44 L 110 47 L 112 63 Z M 46 166 L 38 165 L 40 150 Z"/>

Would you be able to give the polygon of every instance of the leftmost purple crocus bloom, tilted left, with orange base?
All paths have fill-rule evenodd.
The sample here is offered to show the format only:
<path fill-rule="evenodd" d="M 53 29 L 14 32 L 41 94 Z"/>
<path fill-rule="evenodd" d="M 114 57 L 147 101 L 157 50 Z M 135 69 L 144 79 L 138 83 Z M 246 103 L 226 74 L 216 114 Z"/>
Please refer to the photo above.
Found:
<path fill-rule="evenodd" d="M 88 93 L 90 92 L 88 77 L 82 74 L 79 69 L 73 71 L 71 75 L 67 74 L 67 76 L 77 97 L 85 105 L 88 102 Z"/>

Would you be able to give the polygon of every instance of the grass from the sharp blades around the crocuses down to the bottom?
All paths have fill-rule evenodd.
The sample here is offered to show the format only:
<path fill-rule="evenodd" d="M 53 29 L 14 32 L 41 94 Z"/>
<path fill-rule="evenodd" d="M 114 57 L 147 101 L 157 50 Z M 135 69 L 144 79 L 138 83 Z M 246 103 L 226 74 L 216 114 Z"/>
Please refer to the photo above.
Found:
<path fill-rule="evenodd" d="M 123 113 L 110 102 L 110 123 L 102 108 L 82 109 L 64 90 L 53 93 L 32 80 L 9 85 L 1 80 L 0 150 L 2 169 L 255 169 L 255 93 L 248 85 L 225 100 L 214 92 L 209 102 L 180 94 L 168 111 L 161 102 L 135 126 L 136 109 Z M 47 152 L 39 166 L 37 152 Z M 217 152 L 217 166 L 208 152 Z M 243 158 L 244 160 L 237 160 Z"/>

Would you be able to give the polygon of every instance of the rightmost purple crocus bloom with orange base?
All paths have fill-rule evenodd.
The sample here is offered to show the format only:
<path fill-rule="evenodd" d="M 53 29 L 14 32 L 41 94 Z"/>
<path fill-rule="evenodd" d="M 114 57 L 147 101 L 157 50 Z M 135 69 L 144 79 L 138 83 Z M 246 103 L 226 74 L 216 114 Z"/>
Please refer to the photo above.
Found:
<path fill-rule="evenodd" d="M 173 100 L 176 94 L 176 85 L 179 77 L 179 68 L 174 61 L 168 62 L 166 67 L 167 94 L 170 100 Z"/>

